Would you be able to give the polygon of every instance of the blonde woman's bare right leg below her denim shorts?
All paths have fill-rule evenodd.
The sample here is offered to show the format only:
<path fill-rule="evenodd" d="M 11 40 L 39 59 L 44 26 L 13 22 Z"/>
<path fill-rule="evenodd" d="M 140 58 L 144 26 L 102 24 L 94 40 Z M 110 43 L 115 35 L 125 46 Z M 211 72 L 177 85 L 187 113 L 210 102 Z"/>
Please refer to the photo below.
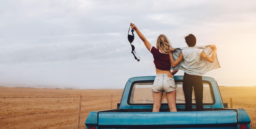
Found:
<path fill-rule="evenodd" d="M 176 90 L 165 93 L 170 112 L 177 112 L 176 109 Z"/>

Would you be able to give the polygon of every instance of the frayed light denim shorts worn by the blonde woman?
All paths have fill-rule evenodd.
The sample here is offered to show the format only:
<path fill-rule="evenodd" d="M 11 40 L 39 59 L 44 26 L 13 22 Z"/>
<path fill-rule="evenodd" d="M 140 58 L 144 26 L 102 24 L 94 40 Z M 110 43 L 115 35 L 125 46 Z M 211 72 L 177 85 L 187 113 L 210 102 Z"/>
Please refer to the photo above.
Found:
<path fill-rule="evenodd" d="M 177 85 L 173 78 L 167 74 L 157 74 L 154 80 L 152 91 L 154 92 L 171 92 L 176 90 Z"/>

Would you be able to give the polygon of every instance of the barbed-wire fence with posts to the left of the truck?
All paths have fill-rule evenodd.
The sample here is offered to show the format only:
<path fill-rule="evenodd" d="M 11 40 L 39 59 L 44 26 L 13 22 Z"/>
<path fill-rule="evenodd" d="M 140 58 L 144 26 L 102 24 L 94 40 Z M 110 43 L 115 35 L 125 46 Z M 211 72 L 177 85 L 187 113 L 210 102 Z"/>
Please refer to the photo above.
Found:
<path fill-rule="evenodd" d="M 30 113 L 30 114 L 22 114 L 22 115 L 16 115 L 16 116 L 7 116 L 7 117 L 3 117 L 3 118 L 0 118 L 1 119 L 7 119 L 7 118 L 16 118 L 16 117 L 22 117 L 22 116 L 30 116 L 30 115 L 36 115 L 36 114 L 47 114 L 47 113 L 52 113 L 52 112 L 61 112 L 61 111 L 65 111 L 65 110 L 76 110 L 76 109 L 79 109 L 79 112 L 78 112 L 78 118 L 76 119 L 71 119 L 71 120 L 67 120 L 67 121 L 64 121 L 64 122 L 59 122 L 59 123 L 55 123 L 55 124 L 52 124 L 52 125 L 47 125 L 47 126 L 44 126 L 44 127 L 41 127 L 39 129 L 43 129 L 43 128 L 48 128 L 48 127 L 51 127 L 51 126 L 56 126 L 56 125 L 59 125 L 59 124 L 63 124 L 63 123 L 66 123 L 66 122 L 72 122 L 72 121 L 76 121 L 78 120 L 78 125 L 77 125 L 77 128 L 83 128 L 85 127 L 85 125 L 80 125 L 80 118 L 82 117 L 86 117 L 88 116 L 88 113 L 89 112 L 86 112 L 85 115 L 81 115 L 81 107 L 89 107 L 89 106 L 94 106 L 94 105 L 102 105 L 102 104 L 107 104 L 107 103 L 110 103 L 110 108 L 112 109 L 112 103 L 113 102 L 117 102 L 117 101 L 113 101 L 112 100 L 112 97 L 113 96 L 121 96 L 121 95 L 95 95 L 95 96 L 46 96 L 46 97 L 0 97 L 0 99 L 28 99 L 28 98 L 79 98 L 80 97 L 80 100 L 79 100 L 79 107 L 77 108 L 68 108 L 68 109 L 60 109 L 60 110 L 53 110 L 53 111 L 47 111 L 47 112 L 38 112 L 38 113 Z M 91 105 L 81 105 L 81 100 L 82 100 L 82 97 L 111 97 L 111 101 L 107 101 L 107 102 L 104 102 L 104 103 L 97 103 L 97 104 L 91 104 Z"/>

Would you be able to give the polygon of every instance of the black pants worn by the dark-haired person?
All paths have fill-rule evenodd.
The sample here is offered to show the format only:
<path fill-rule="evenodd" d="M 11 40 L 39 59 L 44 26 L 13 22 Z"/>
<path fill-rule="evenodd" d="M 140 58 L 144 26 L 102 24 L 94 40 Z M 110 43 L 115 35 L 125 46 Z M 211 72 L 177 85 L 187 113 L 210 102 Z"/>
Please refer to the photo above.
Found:
<path fill-rule="evenodd" d="M 183 91 L 186 101 L 186 111 L 192 111 L 192 91 L 194 87 L 197 111 L 203 111 L 203 82 L 202 76 L 184 73 Z"/>

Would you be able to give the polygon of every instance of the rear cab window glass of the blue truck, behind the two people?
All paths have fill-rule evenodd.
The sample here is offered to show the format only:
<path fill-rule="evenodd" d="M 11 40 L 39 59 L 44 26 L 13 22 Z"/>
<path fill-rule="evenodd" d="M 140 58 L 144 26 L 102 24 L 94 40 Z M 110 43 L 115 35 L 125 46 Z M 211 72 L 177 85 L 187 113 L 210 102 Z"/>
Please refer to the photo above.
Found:
<path fill-rule="evenodd" d="M 145 105 L 151 105 L 153 104 L 153 97 L 152 97 L 152 85 L 153 82 L 150 81 L 140 81 L 133 83 L 131 87 L 131 92 L 129 94 L 128 102 L 131 105 L 136 104 L 145 104 Z M 184 92 L 182 89 L 182 81 L 181 80 L 175 80 L 175 84 L 177 85 L 177 91 L 176 91 L 176 104 L 177 105 L 185 105 L 185 97 Z M 203 104 L 204 105 L 211 105 L 214 104 L 213 99 L 213 91 L 211 83 L 208 81 L 203 81 Z M 162 97 L 162 103 L 167 103 L 167 98 L 165 93 L 163 93 Z M 192 93 L 192 103 L 196 103 L 195 101 L 195 93 L 193 90 Z"/>

